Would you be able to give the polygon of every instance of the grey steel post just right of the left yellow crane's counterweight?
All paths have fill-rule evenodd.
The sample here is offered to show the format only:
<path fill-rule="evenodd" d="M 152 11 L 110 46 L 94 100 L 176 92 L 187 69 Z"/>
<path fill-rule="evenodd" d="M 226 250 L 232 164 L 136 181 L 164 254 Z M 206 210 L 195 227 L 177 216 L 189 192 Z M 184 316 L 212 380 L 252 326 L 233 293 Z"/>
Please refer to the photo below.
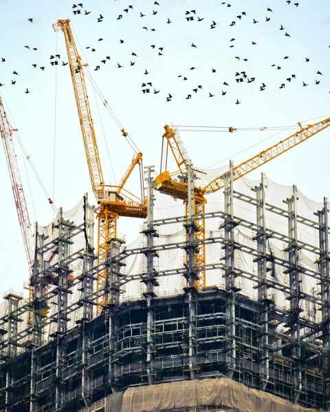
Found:
<path fill-rule="evenodd" d="M 153 207 L 155 196 L 153 193 L 155 181 L 153 179 L 153 166 L 148 166 L 146 170 L 146 182 L 147 182 L 147 205 L 148 214 L 146 216 L 146 227 L 142 231 L 146 236 L 146 278 L 143 282 L 146 284 L 146 291 L 144 297 L 146 299 L 146 374 L 148 376 L 148 384 L 151 385 L 154 382 L 155 371 L 153 370 L 154 359 L 154 334 L 155 334 L 155 318 L 153 309 L 153 299 L 157 297 L 155 293 L 155 286 L 159 286 L 157 281 L 157 273 L 155 271 L 154 259 L 158 257 L 157 252 L 153 251 L 155 237 L 158 236 L 157 231 L 153 225 Z"/>

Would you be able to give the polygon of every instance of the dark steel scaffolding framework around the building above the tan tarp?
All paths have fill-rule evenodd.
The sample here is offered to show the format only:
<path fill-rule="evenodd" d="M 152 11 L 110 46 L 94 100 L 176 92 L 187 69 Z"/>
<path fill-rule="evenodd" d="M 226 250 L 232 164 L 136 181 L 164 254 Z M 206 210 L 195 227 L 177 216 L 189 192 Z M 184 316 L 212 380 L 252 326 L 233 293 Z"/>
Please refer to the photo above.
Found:
<path fill-rule="evenodd" d="M 145 179 L 144 244 L 130 249 L 112 239 L 107 262 L 96 264 L 94 208 L 87 196 L 80 224 L 60 210 L 56 236 L 47 238 L 37 228 L 32 301 L 9 293 L 0 317 L 0 411 L 72 412 L 95 402 L 102 408 L 104 397 L 129 387 L 221 377 L 330 411 L 327 199 L 315 211 L 315 220 L 304 218 L 298 214 L 295 186 L 292 196 L 283 200 L 285 207 L 278 207 L 267 203 L 264 175 L 250 194 L 234 190 L 231 165 L 223 211 L 203 216 L 216 220 L 219 230 L 204 241 L 194 236 L 194 222 L 201 216 L 189 213 L 194 185 L 189 168 L 188 217 L 155 219 L 153 168 L 146 168 Z M 238 201 L 254 207 L 254 216 L 237 216 Z M 286 233 L 267 227 L 266 214 L 281 216 Z M 173 223 L 182 226 L 183 239 L 162 242 L 159 229 Z M 301 240 L 304 227 L 318 233 L 317 246 Z M 238 236 L 240 231 L 249 242 Z M 270 240 L 283 244 L 282 255 L 274 253 Z M 219 256 L 197 267 L 197 249 L 210 244 L 219 247 Z M 182 265 L 159 268 L 162 254 L 174 249 L 185 255 Z M 302 252 L 315 257 L 315 270 L 303 264 Z M 56 257 L 45 259 L 49 255 Z M 126 273 L 126 260 L 136 256 L 143 257 L 144 270 Z M 238 264 L 244 257 L 253 260 L 255 270 Z M 197 290 L 201 270 L 217 273 L 223 287 L 219 282 Z M 104 271 L 107 282 L 96 291 L 94 281 Z M 279 282 L 276 271 L 287 281 Z M 180 276 L 184 288 L 170 295 L 159 284 L 172 276 Z M 315 290 L 302 288 L 307 278 L 317 281 Z M 255 297 L 244 293 L 245 280 L 253 283 Z M 142 282 L 143 293 L 123 299 L 134 281 Z M 102 293 L 109 296 L 109 304 L 98 313 Z M 287 306 L 278 304 L 276 293 L 285 297 Z"/>

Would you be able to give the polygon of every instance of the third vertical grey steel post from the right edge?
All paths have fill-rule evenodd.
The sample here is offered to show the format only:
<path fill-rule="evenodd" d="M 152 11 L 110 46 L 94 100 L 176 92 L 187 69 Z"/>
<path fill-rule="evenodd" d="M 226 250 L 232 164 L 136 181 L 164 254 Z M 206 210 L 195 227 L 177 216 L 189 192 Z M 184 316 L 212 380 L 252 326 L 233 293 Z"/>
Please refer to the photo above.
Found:
<path fill-rule="evenodd" d="M 265 235 L 265 174 L 261 173 L 261 183 L 254 188 L 256 192 L 256 224 L 259 229 L 256 232 L 254 240 L 256 240 L 256 247 L 258 258 L 254 260 L 257 262 L 258 270 L 258 301 L 263 305 L 263 309 L 259 314 L 259 326 L 261 332 L 259 333 L 259 350 L 261 351 L 260 376 L 261 389 L 265 391 L 267 383 L 270 378 L 270 353 L 269 353 L 269 309 L 271 299 L 268 297 L 267 286 L 267 247 Z"/>

